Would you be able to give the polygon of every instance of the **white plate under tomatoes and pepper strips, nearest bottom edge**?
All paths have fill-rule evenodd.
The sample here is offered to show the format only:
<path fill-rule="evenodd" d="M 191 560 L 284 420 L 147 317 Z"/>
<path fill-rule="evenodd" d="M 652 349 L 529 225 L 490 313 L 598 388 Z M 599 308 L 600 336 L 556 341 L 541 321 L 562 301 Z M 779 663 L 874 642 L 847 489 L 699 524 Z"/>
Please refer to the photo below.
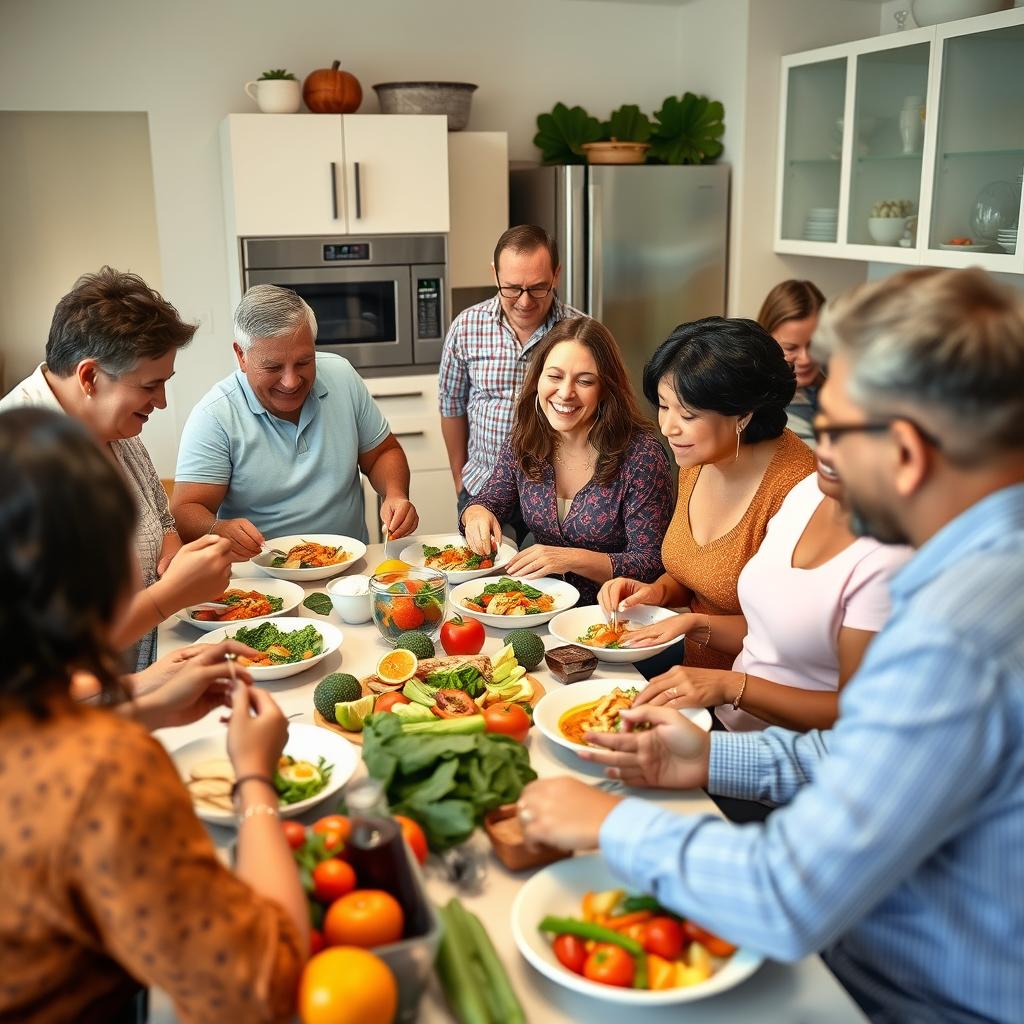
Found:
<path fill-rule="evenodd" d="M 512 904 L 512 934 L 519 952 L 541 974 L 559 985 L 596 999 L 633 1007 L 665 1007 L 717 995 L 745 981 L 764 962 L 764 957 L 753 950 L 737 949 L 707 981 L 657 992 L 601 985 L 573 974 L 556 959 L 551 948 L 554 936 L 542 932 L 537 926 L 547 914 L 579 918 L 586 893 L 618 889 L 622 885 L 622 880 L 611 873 L 599 854 L 560 860 L 538 871 L 522 884 Z"/>

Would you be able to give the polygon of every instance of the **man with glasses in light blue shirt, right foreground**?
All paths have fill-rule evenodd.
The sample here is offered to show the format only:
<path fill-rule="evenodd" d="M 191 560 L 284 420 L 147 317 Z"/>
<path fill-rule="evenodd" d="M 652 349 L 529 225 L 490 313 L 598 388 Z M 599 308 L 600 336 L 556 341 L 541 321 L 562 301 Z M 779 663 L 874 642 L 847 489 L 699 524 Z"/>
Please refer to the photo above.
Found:
<path fill-rule="evenodd" d="M 1024 301 L 981 270 L 912 270 L 839 300 L 824 332 L 815 432 L 853 521 L 919 549 L 839 722 L 709 736 L 671 710 L 669 673 L 624 713 L 652 728 L 588 759 L 784 806 L 737 826 L 551 779 L 520 816 L 735 943 L 822 950 L 874 1021 L 1020 1022 Z"/>

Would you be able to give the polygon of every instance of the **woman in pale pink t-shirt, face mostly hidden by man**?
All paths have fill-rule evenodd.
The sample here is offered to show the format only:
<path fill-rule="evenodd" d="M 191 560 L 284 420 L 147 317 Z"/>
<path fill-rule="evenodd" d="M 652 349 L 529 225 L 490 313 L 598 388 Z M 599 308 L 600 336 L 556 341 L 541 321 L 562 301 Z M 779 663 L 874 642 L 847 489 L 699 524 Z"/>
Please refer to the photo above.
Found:
<path fill-rule="evenodd" d="M 711 615 L 715 646 L 732 671 L 678 667 L 651 680 L 637 703 L 716 707 L 731 730 L 826 729 L 839 691 L 889 616 L 889 580 L 910 549 L 857 538 L 842 484 L 817 455 L 817 473 L 786 496 L 739 575 L 742 615 Z"/>

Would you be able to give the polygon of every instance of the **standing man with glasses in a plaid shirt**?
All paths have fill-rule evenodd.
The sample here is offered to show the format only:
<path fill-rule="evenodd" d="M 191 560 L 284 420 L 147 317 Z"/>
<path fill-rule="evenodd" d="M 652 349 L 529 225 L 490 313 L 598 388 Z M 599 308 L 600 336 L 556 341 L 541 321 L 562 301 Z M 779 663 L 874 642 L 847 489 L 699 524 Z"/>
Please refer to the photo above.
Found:
<path fill-rule="evenodd" d="M 441 433 L 459 515 L 486 483 L 512 430 L 515 399 L 534 346 L 579 310 L 555 295 L 558 246 L 543 227 L 510 227 L 495 247 L 498 294 L 463 310 L 444 339 L 438 377 Z M 516 527 L 521 542 L 524 530 Z"/>

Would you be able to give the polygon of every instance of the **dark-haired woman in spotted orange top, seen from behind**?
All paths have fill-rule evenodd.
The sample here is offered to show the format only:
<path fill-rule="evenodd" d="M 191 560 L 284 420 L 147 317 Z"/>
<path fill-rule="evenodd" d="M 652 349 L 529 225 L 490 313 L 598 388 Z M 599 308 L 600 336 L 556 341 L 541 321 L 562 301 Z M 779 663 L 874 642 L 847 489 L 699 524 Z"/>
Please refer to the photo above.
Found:
<path fill-rule="evenodd" d="M 230 693 L 232 873 L 146 731 L 224 702 L 222 652 L 156 699 L 126 700 L 118 677 L 112 624 L 138 568 L 116 464 L 70 417 L 19 409 L 0 414 L 0 1020 L 115 1021 L 139 984 L 182 1021 L 291 1020 L 308 920 L 269 780 L 284 716 Z M 75 703 L 86 674 L 121 703 Z"/>

